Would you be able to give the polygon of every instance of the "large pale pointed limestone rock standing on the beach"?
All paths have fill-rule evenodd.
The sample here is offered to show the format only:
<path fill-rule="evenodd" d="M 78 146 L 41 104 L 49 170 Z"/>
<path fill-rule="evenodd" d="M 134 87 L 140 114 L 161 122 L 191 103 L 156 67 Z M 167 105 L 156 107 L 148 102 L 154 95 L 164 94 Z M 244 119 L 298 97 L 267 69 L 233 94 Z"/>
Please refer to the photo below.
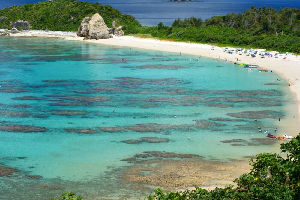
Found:
<path fill-rule="evenodd" d="M 87 39 L 111 38 L 109 28 L 107 28 L 104 19 L 98 13 L 82 20 L 77 35 Z"/>

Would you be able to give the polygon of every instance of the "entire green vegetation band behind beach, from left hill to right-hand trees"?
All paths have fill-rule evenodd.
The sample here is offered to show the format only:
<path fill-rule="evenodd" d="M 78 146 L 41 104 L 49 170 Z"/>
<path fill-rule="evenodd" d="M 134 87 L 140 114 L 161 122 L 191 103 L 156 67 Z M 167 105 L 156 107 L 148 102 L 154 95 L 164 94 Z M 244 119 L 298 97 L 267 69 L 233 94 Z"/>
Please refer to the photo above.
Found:
<path fill-rule="evenodd" d="M 29 21 L 32 29 L 77 31 L 82 19 L 99 13 L 108 27 L 112 20 L 122 25 L 125 34 L 151 35 L 161 39 L 211 43 L 220 46 L 264 48 L 279 52 L 300 53 L 300 9 L 252 6 L 244 13 L 229 13 L 201 18 L 176 19 L 171 26 L 141 26 L 131 15 L 122 14 L 110 5 L 76 0 L 56 0 L 0 10 L 1 28 L 12 28 L 9 23 L 18 19 Z M 1 19 L 1 18 L 0 18 Z"/>

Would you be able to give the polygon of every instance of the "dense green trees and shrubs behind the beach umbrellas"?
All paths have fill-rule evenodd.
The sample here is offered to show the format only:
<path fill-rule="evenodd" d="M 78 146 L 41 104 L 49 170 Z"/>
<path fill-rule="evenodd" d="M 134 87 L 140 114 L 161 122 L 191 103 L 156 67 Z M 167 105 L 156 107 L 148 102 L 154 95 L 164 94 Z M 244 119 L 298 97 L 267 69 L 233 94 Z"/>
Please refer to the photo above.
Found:
<path fill-rule="evenodd" d="M 300 53 L 300 9 L 252 6 L 244 13 L 176 19 L 171 26 L 131 27 L 126 34 L 150 34 L 176 41 L 253 47 Z"/>

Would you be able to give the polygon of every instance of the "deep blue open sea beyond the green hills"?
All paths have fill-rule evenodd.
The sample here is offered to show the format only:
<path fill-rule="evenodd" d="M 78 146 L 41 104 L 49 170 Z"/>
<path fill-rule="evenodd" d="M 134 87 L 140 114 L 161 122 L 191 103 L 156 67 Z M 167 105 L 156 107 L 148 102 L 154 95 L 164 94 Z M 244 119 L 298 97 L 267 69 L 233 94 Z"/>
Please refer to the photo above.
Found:
<path fill-rule="evenodd" d="M 0 0 L 0 9 L 12 5 L 33 4 L 41 0 Z M 88 2 L 99 2 L 109 4 L 120 10 L 123 14 L 131 14 L 142 25 L 152 26 L 163 22 L 171 25 L 174 19 L 185 17 L 201 17 L 207 19 L 215 15 L 226 15 L 228 13 L 243 13 L 252 5 L 255 7 L 297 7 L 300 8 L 299 0 L 210 0 L 204 2 L 175 3 L 168 0 L 86 0 Z"/>

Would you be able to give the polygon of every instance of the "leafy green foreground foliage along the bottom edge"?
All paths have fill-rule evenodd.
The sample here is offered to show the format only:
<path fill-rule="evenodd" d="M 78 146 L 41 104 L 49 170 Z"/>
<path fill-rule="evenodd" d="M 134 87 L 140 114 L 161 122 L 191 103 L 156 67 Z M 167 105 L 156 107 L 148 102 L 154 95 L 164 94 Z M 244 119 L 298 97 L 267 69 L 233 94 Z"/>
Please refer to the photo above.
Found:
<path fill-rule="evenodd" d="M 252 157 L 249 164 L 253 167 L 249 173 L 241 175 L 233 182 L 237 185 L 216 188 L 207 191 L 196 187 L 195 190 L 164 193 L 161 188 L 144 200 L 184 200 L 184 199 L 244 199 L 244 200 L 279 200 L 300 199 L 300 134 L 290 142 L 280 145 L 282 155 L 261 153 Z M 82 200 L 74 193 L 63 194 L 62 199 Z M 76 199 L 77 198 L 77 199 Z M 59 200 L 59 199 L 52 199 Z"/>

